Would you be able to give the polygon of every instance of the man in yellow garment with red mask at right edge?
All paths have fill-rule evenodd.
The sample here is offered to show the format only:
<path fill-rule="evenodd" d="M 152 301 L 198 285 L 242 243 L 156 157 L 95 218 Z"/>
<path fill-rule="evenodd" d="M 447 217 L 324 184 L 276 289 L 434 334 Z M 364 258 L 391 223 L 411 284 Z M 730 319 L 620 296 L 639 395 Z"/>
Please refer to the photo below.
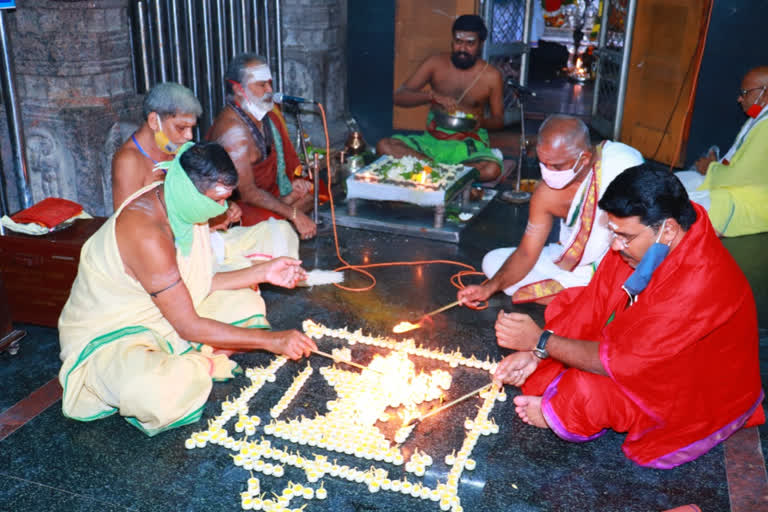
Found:
<path fill-rule="evenodd" d="M 728 152 L 713 147 L 695 170 L 676 173 L 721 236 L 768 231 L 768 66 L 744 75 L 737 101 L 747 121 Z"/>

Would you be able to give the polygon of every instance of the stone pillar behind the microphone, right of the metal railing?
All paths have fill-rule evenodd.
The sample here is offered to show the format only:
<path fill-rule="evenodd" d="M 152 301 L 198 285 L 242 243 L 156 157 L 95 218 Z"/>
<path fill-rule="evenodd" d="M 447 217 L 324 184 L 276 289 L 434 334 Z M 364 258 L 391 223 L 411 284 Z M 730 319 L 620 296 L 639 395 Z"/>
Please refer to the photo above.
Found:
<path fill-rule="evenodd" d="M 342 144 L 347 135 L 346 5 L 346 0 L 281 0 L 282 88 L 287 94 L 323 104 L 334 146 Z M 291 119 L 288 122 L 294 124 Z M 321 145 L 320 116 L 304 114 L 302 122 L 313 144 Z"/>

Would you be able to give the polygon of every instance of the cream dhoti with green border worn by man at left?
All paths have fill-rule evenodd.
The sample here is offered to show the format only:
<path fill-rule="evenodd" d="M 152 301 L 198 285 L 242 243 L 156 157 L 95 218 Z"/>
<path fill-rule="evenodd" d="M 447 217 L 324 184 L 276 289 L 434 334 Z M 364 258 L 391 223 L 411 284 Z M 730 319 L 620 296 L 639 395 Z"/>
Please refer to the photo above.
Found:
<path fill-rule="evenodd" d="M 64 415 L 91 421 L 119 412 L 150 436 L 200 419 L 213 381 L 239 370 L 211 347 L 181 339 L 125 271 L 115 221 L 126 204 L 160 184 L 136 192 L 85 243 L 59 318 Z M 177 249 L 176 257 L 200 316 L 269 328 L 258 292 L 211 293 L 214 257 L 207 225 L 194 226 L 189 254 Z"/>

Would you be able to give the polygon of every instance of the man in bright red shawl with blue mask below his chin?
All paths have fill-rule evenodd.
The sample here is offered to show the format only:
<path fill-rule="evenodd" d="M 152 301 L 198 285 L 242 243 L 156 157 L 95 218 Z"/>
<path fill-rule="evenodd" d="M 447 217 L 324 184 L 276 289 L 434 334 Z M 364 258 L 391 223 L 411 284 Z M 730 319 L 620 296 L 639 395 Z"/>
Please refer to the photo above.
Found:
<path fill-rule="evenodd" d="M 518 352 L 495 378 L 522 387 L 523 421 L 574 442 L 627 432 L 627 457 L 661 469 L 764 423 L 754 298 L 706 211 L 645 166 L 599 205 L 613 250 L 590 284 L 557 296 L 546 330 L 499 314 L 498 342 Z"/>

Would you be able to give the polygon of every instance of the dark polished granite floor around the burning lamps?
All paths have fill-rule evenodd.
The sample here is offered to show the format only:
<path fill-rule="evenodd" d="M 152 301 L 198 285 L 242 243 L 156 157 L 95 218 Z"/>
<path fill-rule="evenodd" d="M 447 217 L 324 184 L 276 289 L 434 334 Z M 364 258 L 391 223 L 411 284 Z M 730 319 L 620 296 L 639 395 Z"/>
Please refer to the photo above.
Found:
<path fill-rule="evenodd" d="M 338 232 L 339 248 L 342 256 L 353 263 L 442 259 L 476 266 L 488 249 L 516 243 L 526 218 L 526 207 L 494 200 L 464 230 L 460 244 L 342 228 Z M 301 257 L 307 268 L 338 265 L 329 234 L 303 244 Z M 455 289 L 449 279 L 457 270 L 449 264 L 376 269 L 376 286 L 362 293 L 330 286 L 296 290 L 265 287 L 263 293 L 274 328 L 297 328 L 302 320 L 312 318 L 333 328 L 347 326 L 386 335 L 398 321 L 454 300 Z M 346 284 L 361 287 L 369 280 L 350 274 Z M 500 309 L 513 308 L 539 321 L 542 318 L 539 306 L 513 307 L 504 298 L 495 297 L 485 311 L 454 308 L 437 315 L 432 324 L 414 331 L 412 336 L 430 348 L 459 348 L 480 359 L 498 359 L 504 351 L 495 343 L 493 322 Z M 249 474 L 232 463 L 230 452 L 211 445 L 194 450 L 184 447 L 184 440 L 200 430 L 201 424 L 148 438 L 117 415 L 90 423 L 65 418 L 58 401 L 60 389 L 52 381 L 59 366 L 57 333 L 54 329 L 20 327 L 28 331 L 20 352 L 15 356 L 0 354 L 4 389 L 0 395 L 0 510 L 240 509 L 239 493 L 246 489 Z M 768 336 L 763 336 L 762 343 L 765 354 Z M 326 351 L 341 346 L 331 338 L 319 344 Z M 354 359 L 363 363 L 374 352 L 370 347 L 353 347 Z M 265 365 L 271 359 L 261 353 L 234 357 L 244 367 Z M 313 356 L 310 363 L 319 370 L 329 361 Z M 252 413 L 268 419 L 269 408 L 305 365 L 288 363 L 283 367 L 277 381 L 268 383 L 251 400 Z M 429 370 L 432 366 L 417 361 L 417 368 Z M 767 360 L 763 360 L 762 368 L 763 382 L 768 383 Z M 479 370 L 452 372 L 454 385 L 449 399 L 487 382 L 487 374 Z M 203 422 L 218 414 L 221 402 L 237 395 L 246 382 L 241 376 L 215 384 Z M 705 512 L 766 509 L 765 426 L 743 431 L 739 439 L 729 441 L 730 445 L 718 446 L 679 468 L 651 470 L 634 465 L 622 455 L 621 434 L 608 433 L 589 443 L 570 444 L 549 431 L 523 424 L 511 401 L 517 392 L 508 388 L 510 399 L 494 407 L 491 417 L 500 425 L 500 433 L 479 440 L 473 452 L 477 468 L 464 472 L 459 486 L 464 510 L 647 512 L 691 503 Z M 325 402 L 332 397 L 333 391 L 315 371 L 285 415 L 291 418 L 323 413 Z M 442 459 L 461 444 L 464 419 L 474 416 L 479 404 L 479 399 L 468 400 L 425 420 L 404 445 L 406 450 L 418 447 L 433 455 L 435 464 L 424 477 L 426 484 L 434 486 L 444 481 L 449 468 Z M 18 428 L 14 431 L 7 427 L 9 424 Z M 262 434 L 258 432 L 257 438 Z M 372 463 L 271 439 L 275 446 L 306 455 L 323 453 L 361 469 L 375 464 L 388 469 L 391 475 L 402 473 L 402 468 L 384 462 Z M 282 478 L 259 476 L 265 492 L 280 493 L 289 480 L 306 482 L 303 473 L 290 467 Z M 418 480 L 411 475 L 408 478 Z M 325 501 L 294 499 L 290 507 L 306 504 L 308 511 L 343 512 L 439 510 L 436 503 L 392 492 L 371 494 L 363 484 L 330 476 L 323 482 L 328 490 Z"/>

